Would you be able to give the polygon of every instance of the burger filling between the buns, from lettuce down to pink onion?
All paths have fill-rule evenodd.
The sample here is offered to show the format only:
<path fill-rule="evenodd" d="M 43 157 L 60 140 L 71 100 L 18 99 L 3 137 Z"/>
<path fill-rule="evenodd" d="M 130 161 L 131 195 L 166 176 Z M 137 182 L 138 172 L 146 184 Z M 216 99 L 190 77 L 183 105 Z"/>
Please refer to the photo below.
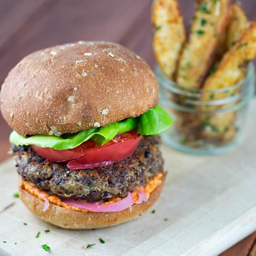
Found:
<path fill-rule="evenodd" d="M 45 202 L 89 211 L 118 211 L 147 201 L 163 175 L 159 137 L 151 135 L 171 122 L 156 106 L 138 118 L 72 135 L 23 137 L 13 131 L 22 188 Z"/>

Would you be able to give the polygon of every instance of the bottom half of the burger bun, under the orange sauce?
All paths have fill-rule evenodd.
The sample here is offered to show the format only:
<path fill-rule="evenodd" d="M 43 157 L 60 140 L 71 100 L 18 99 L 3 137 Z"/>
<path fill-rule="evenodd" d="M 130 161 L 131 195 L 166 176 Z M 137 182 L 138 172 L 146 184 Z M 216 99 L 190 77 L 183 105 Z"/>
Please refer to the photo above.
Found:
<path fill-rule="evenodd" d="M 64 229 L 99 229 L 121 224 L 135 219 L 146 212 L 158 199 L 162 192 L 163 182 L 152 192 L 147 202 L 134 204 L 132 210 L 125 209 L 120 212 L 81 212 L 66 209 L 50 203 L 47 211 L 43 212 L 44 201 L 20 188 L 20 199 L 41 220 Z"/>

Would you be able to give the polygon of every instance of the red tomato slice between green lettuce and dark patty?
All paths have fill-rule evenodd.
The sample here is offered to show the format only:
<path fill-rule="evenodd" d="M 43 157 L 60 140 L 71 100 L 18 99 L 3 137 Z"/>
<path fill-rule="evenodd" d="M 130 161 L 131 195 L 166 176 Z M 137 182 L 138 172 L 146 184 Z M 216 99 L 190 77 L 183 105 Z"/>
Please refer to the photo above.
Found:
<path fill-rule="evenodd" d="M 89 140 L 80 146 L 58 150 L 53 148 L 41 148 L 35 145 L 30 147 L 38 155 L 51 162 L 67 162 L 71 170 L 102 167 L 131 155 L 141 141 L 141 136 L 132 132 L 116 135 L 103 146 L 98 146 Z"/>

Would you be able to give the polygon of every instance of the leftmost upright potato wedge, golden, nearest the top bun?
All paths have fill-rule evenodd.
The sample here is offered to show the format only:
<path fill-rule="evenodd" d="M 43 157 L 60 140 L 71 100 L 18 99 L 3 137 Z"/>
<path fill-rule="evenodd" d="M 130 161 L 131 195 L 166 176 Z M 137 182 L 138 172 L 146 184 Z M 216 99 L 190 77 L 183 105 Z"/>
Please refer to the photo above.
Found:
<path fill-rule="evenodd" d="M 163 74 L 173 79 L 182 46 L 186 39 L 183 17 L 176 0 L 155 0 L 152 5 L 155 27 L 153 47 Z"/>

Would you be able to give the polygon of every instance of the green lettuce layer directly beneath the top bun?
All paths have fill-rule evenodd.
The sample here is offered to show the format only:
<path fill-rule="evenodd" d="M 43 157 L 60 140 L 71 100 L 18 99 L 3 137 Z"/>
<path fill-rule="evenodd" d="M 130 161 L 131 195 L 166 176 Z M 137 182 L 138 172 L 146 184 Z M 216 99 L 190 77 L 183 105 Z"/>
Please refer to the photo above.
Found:
<path fill-rule="evenodd" d="M 13 131 L 10 142 L 14 145 L 36 145 L 43 148 L 69 149 L 92 139 L 97 145 L 111 141 L 115 135 L 128 132 L 138 127 L 138 134 L 157 135 L 166 130 L 172 123 L 169 115 L 159 106 L 149 109 L 137 118 L 128 118 L 105 127 L 93 128 L 75 134 L 64 134 L 60 137 L 50 135 L 32 135 L 24 137 Z"/>

